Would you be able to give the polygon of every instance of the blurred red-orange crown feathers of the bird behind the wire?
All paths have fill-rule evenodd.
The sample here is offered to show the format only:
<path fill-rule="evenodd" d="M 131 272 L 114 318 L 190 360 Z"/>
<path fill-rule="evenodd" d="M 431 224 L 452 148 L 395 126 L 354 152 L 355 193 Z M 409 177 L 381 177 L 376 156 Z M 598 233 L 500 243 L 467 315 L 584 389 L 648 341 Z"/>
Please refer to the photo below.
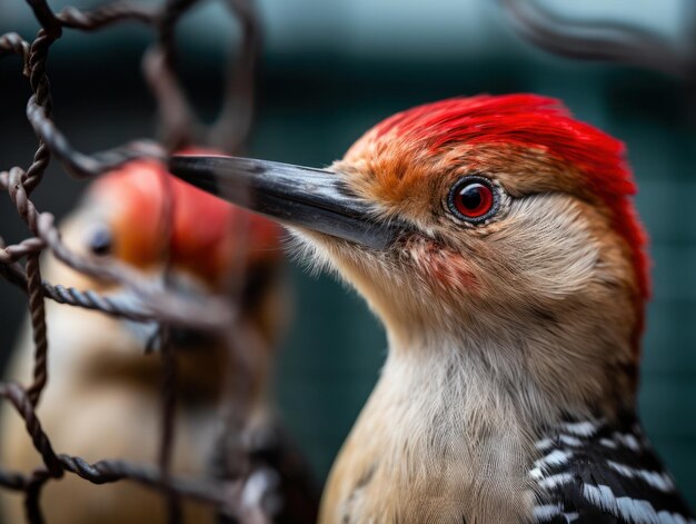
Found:
<path fill-rule="evenodd" d="M 111 227 L 115 255 L 139 267 L 169 256 L 173 266 L 219 283 L 239 250 L 246 264 L 281 255 L 279 226 L 172 177 L 155 160 L 109 172 L 89 197 Z"/>

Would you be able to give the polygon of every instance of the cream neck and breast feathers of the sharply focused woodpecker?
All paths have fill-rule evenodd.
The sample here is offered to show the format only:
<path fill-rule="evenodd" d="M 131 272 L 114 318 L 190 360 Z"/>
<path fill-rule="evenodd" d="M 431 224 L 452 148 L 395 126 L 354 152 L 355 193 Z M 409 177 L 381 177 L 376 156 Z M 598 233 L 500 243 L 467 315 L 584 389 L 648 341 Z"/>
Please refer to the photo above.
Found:
<path fill-rule="evenodd" d="M 563 392 L 551 397 L 524 368 L 524 354 L 392 346 L 334 465 L 321 522 L 528 522 L 538 442 L 567 411 Z M 579 403 L 573 413 L 594 418 Z"/>

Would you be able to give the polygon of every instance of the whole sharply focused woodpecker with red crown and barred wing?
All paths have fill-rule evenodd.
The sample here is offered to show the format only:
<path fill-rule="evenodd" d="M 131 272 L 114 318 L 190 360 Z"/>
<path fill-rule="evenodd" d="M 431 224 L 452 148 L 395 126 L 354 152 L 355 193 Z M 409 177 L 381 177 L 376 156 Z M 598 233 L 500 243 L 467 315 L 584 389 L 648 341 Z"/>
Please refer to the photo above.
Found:
<path fill-rule="evenodd" d="M 170 168 L 291 226 L 386 326 L 320 522 L 696 522 L 636 415 L 648 273 L 619 141 L 479 96 L 388 118 L 330 171 Z"/>

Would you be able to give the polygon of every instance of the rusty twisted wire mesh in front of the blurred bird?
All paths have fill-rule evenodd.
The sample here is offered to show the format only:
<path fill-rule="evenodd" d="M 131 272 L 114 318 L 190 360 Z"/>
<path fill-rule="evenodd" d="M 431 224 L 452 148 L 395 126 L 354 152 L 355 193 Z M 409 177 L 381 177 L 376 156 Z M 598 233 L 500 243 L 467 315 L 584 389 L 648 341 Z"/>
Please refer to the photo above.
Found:
<path fill-rule="evenodd" d="M 42 487 L 66 474 L 78 475 L 95 484 L 130 479 L 157 490 L 167 497 L 170 522 L 179 522 L 181 518 L 181 497 L 191 497 L 213 505 L 222 518 L 255 523 L 267 522 L 270 518 L 260 504 L 250 507 L 241 503 L 245 478 L 252 473 L 242 439 L 238 437 L 246 416 L 243 379 L 233 380 L 235 384 L 228 388 L 229 402 L 226 403 L 228 413 L 225 416 L 227 437 L 221 438 L 218 454 L 226 457 L 228 463 L 233 461 L 233 464 L 222 466 L 223 472 L 220 476 L 223 478 L 220 481 L 179 478 L 170 472 L 177 370 L 176 360 L 168 349 L 168 330 L 170 327 L 181 326 L 207 329 L 225 336 L 229 342 L 228 346 L 233 355 L 238 375 L 243 377 L 246 376 L 243 369 L 248 369 L 250 363 L 248 356 L 235 352 L 235 348 L 242 346 L 245 340 L 239 339 L 240 335 L 235 329 L 229 329 L 230 324 L 237 320 L 233 300 L 210 297 L 185 299 L 173 289 L 152 286 L 146 277 L 128 266 L 117 261 L 95 260 L 71 253 L 62 244 L 53 217 L 37 209 L 31 201 L 31 194 L 41 184 L 52 158 L 72 177 L 87 178 L 138 158 L 165 160 L 170 151 L 192 144 L 205 144 L 228 152 L 243 146 L 252 120 L 253 78 L 259 49 L 259 27 L 253 6 L 251 0 L 226 2 L 241 28 L 241 50 L 236 55 L 237 58 L 230 61 L 221 115 L 212 126 L 206 127 L 197 119 L 188 103 L 175 69 L 175 28 L 196 3 L 197 0 L 166 0 L 161 4 L 115 1 L 92 11 L 68 7 L 60 12 L 53 12 L 47 0 L 27 0 L 41 26 L 37 37 L 32 41 L 27 41 L 14 32 L 0 36 L 0 58 L 19 57 L 20 70 L 29 79 L 32 95 L 27 103 L 26 113 L 38 139 L 38 148 L 28 167 L 11 167 L 0 172 L 0 188 L 7 191 L 19 217 L 31 231 L 29 238 L 13 245 L 6 245 L 0 238 L 0 275 L 27 291 L 34 344 L 33 382 L 29 385 L 0 382 L 0 397 L 7 399 L 23 418 L 28 438 L 31 438 L 43 463 L 42 467 L 30 473 L 0 468 L 0 487 L 23 492 L 26 514 L 31 523 L 43 522 L 39 504 Z M 158 142 L 135 140 L 126 146 L 86 155 L 71 147 L 52 119 L 51 90 L 47 76 L 50 49 L 64 30 L 90 32 L 125 22 L 145 23 L 157 34 L 156 43 L 145 56 L 143 72 L 158 101 L 160 139 Z M 123 303 L 118 295 L 100 295 L 44 281 L 39 266 L 39 257 L 44 250 L 52 253 L 58 260 L 74 270 L 127 287 L 135 291 L 139 301 Z M 200 255 L 206 256 L 205 253 Z M 243 254 L 239 255 L 242 256 Z M 23 266 L 20 264 L 22 259 L 26 260 Z M 119 459 L 103 459 L 90 464 L 80 457 L 57 453 L 51 445 L 50 435 L 44 433 L 36 414 L 48 380 L 47 363 L 50 355 L 44 313 L 46 298 L 127 319 L 159 323 L 165 377 L 157 467 Z"/>

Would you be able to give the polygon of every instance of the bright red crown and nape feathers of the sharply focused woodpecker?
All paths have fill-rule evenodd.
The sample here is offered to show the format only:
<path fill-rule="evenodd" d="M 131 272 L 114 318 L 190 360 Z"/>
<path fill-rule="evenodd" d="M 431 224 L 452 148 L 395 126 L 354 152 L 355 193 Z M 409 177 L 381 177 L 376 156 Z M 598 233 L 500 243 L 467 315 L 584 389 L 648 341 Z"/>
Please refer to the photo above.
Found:
<path fill-rule="evenodd" d="M 543 151 L 573 166 L 580 175 L 579 184 L 608 209 L 614 229 L 630 248 L 640 298 L 648 296 L 646 237 L 629 198 L 636 186 L 624 158 L 624 145 L 571 118 L 558 100 L 536 95 L 484 95 L 418 106 L 375 126 L 346 158 L 379 155 L 395 142 L 409 158 L 432 157 L 459 146 L 476 149 L 499 145 Z"/>

